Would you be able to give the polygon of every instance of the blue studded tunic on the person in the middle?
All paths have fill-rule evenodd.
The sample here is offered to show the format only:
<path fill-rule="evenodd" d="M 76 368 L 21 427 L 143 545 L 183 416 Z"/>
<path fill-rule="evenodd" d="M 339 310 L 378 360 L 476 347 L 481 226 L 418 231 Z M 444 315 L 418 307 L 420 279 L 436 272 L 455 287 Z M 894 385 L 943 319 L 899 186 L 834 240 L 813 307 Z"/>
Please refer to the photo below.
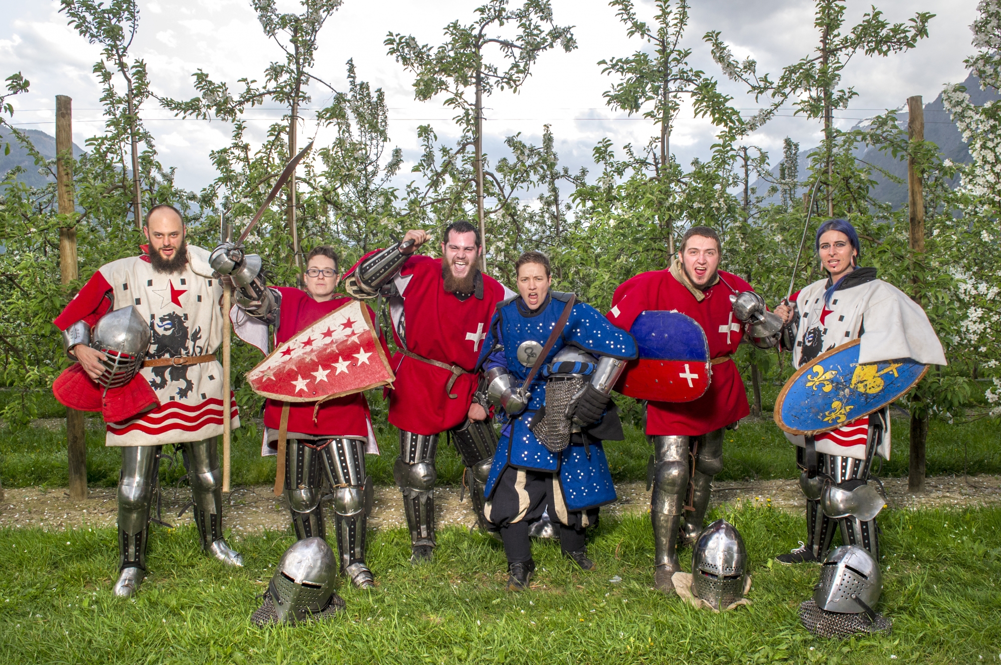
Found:
<path fill-rule="evenodd" d="M 554 292 L 549 303 L 541 308 L 542 311 L 528 314 L 518 305 L 520 297 L 502 303 L 484 340 L 480 363 L 486 361 L 490 351 L 499 345 L 505 349 L 504 358 L 508 370 L 518 380 L 525 381 L 532 370 L 534 359 L 528 365 L 520 362 L 517 352 L 519 346 L 528 341 L 535 341 L 540 346 L 546 344 L 567 306 L 569 295 Z M 633 358 L 637 353 L 636 341 L 629 333 L 609 324 L 598 310 L 585 303 L 574 305 L 567 325 L 547 354 L 545 363 L 552 362 L 557 353 L 568 345 L 598 356 Z M 532 385 L 528 387 L 532 393 L 529 406 L 511 420 L 510 427 L 505 428 L 507 434 L 497 445 L 486 480 L 486 497 L 492 494 L 505 468 L 513 466 L 559 473 L 569 510 L 583 510 L 614 501 L 616 491 L 612 472 L 600 442 L 590 443 L 590 451 L 581 440 L 560 453 L 553 453 L 529 429 L 532 419 L 546 404 L 546 381 L 542 374 L 537 373 Z"/>

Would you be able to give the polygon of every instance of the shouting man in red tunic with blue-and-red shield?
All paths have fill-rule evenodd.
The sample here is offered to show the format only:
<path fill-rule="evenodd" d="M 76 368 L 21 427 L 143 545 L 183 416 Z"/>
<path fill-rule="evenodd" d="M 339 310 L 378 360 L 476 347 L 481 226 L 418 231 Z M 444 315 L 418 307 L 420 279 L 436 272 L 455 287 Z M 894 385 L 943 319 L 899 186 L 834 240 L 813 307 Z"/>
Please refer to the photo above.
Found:
<path fill-rule="evenodd" d="M 750 412 L 734 353 L 746 332 L 759 346 L 778 342 L 777 334 L 761 335 L 760 324 L 748 331 L 735 313 L 747 309 L 735 305 L 760 303 L 757 309 L 764 311 L 764 303 L 750 284 L 719 270 L 720 249 L 716 231 L 692 227 L 671 267 L 623 283 L 608 314 L 612 323 L 629 330 L 646 310 L 677 310 L 695 319 L 709 340 L 712 380 L 706 393 L 691 402 L 647 405 L 646 433 L 654 443 L 656 464 L 650 511 L 657 564 L 654 583 L 667 594 L 675 588 L 671 576 L 681 570 L 679 537 L 683 544 L 691 543 L 702 531 L 713 477 L 723 469 L 723 433 Z M 777 323 L 781 327 L 781 321 Z"/>

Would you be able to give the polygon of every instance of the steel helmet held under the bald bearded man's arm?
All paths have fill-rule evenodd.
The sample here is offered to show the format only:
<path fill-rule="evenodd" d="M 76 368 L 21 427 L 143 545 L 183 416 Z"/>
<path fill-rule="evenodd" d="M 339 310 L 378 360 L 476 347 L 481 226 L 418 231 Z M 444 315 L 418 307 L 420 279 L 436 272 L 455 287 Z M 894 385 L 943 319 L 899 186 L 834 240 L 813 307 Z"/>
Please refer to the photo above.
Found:
<path fill-rule="evenodd" d="M 108 312 L 94 326 L 90 346 L 106 356 L 97 382 L 105 388 L 124 386 L 132 380 L 149 349 L 149 323 L 134 305 Z"/>

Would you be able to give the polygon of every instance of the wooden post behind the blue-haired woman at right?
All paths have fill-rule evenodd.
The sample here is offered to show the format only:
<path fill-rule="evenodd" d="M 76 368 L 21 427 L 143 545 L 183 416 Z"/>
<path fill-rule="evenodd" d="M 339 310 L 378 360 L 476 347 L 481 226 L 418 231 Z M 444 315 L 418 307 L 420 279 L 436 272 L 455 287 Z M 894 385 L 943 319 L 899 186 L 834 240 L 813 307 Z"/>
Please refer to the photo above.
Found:
<path fill-rule="evenodd" d="M 907 135 L 911 142 L 925 140 L 925 109 L 921 96 L 907 99 Z M 925 251 L 925 196 L 921 184 L 922 172 L 914 163 L 914 157 L 907 158 L 907 208 L 910 218 L 908 244 L 912 260 L 919 260 L 915 254 Z M 921 305 L 920 276 L 912 272 L 914 300 Z M 915 400 L 917 401 L 917 399 Z M 911 492 L 925 491 L 925 443 L 928 438 L 928 412 L 926 409 L 911 407 L 911 455 L 908 465 L 907 489 Z"/>

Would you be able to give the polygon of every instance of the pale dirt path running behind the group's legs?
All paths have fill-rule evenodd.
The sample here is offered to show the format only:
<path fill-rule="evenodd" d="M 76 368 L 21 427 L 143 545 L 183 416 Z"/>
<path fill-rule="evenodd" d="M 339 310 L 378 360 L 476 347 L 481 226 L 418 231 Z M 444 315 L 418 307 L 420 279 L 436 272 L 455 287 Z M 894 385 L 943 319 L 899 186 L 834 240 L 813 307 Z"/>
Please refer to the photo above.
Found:
<path fill-rule="evenodd" d="M 962 477 L 936 476 L 927 480 L 928 491 L 921 495 L 907 491 L 906 478 L 883 481 L 891 508 L 983 506 L 1001 504 L 1001 476 Z M 650 506 L 650 492 L 644 483 L 620 483 L 617 486 L 619 501 L 603 508 L 603 512 L 621 515 L 646 512 Z M 438 487 L 435 508 L 438 526 L 472 526 L 474 519 L 465 497 L 459 503 L 459 488 Z M 190 497 L 185 489 L 164 488 L 163 521 L 172 525 L 190 522 L 190 511 L 176 517 Z M 714 503 L 752 501 L 760 505 L 771 502 L 780 510 L 800 512 L 803 495 L 795 480 L 762 480 L 756 482 L 720 482 L 714 484 Z M 270 486 L 237 487 L 229 497 L 230 508 L 225 516 L 226 526 L 236 534 L 259 533 L 264 529 L 283 530 L 288 526 L 288 512 L 284 500 L 276 500 Z M 114 488 L 95 488 L 84 502 L 71 502 L 65 489 L 47 491 L 37 488 L 5 490 L 0 502 L 0 528 L 41 527 L 61 530 L 81 525 L 114 526 L 117 517 Z M 403 525 L 403 511 L 399 490 L 395 487 L 376 487 L 369 527 L 377 530 L 392 529 Z"/>

